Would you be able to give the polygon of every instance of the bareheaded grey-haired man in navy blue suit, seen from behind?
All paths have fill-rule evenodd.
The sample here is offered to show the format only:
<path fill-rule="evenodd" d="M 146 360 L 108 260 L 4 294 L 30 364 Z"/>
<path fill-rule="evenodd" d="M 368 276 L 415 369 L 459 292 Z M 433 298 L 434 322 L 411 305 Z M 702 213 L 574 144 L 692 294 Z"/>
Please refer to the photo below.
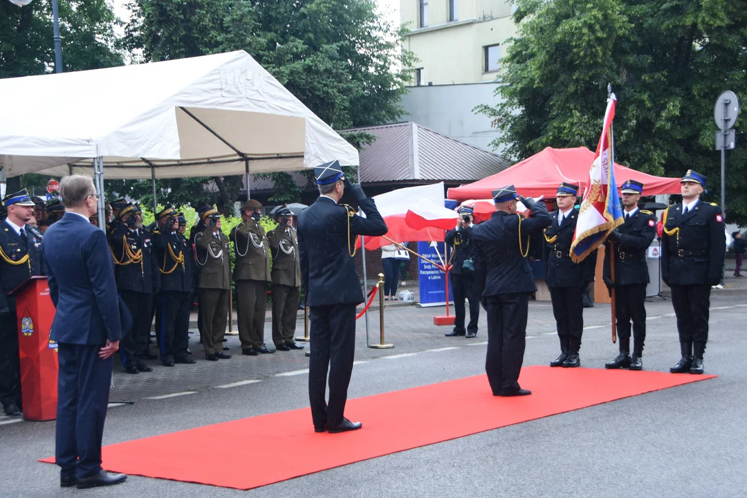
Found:
<path fill-rule="evenodd" d="M 57 311 L 49 334 L 58 342 L 57 449 L 61 486 L 114 485 L 127 479 L 101 467 L 112 355 L 123 334 L 114 264 L 106 234 L 91 225 L 99 194 L 87 176 L 63 178 L 67 212 L 42 247 L 49 296 Z M 126 326 L 127 324 L 125 324 Z"/>

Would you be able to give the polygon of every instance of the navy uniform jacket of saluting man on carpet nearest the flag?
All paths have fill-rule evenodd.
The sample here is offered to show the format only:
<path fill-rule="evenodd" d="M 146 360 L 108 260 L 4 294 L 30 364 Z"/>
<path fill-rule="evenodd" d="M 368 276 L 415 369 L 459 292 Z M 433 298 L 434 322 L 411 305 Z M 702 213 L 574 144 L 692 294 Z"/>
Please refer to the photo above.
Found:
<path fill-rule="evenodd" d="M 550 225 L 548 210 L 542 202 L 530 206 L 529 218 L 495 211 L 490 220 L 471 228 L 472 263 L 480 296 L 530 293 L 537 290 L 527 252 L 529 234 Z M 521 248 L 519 227 L 521 225 Z"/>

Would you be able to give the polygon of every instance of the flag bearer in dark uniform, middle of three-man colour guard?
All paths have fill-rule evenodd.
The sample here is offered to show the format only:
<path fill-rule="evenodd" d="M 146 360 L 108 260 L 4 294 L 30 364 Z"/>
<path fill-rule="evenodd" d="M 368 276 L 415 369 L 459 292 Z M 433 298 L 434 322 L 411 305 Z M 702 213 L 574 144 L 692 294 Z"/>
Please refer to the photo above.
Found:
<path fill-rule="evenodd" d="M 604 368 L 643 368 L 643 342 L 646 338 L 646 284 L 648 265 L 646 250 L 656 236 L 656 217 L 651 211 L 638 208 L 643 184 L 627 180 L 620 187 L 624 224 L 613 230 L 607 240 L 615 242 L 615 275 L 610 276 L 610 243 L 605 243 L 604 284 L 612 293 L 615 288 L 615 309 L 619 351 Z M 633 322 L 633 357 L 630 357 L 630 322 Z"/>

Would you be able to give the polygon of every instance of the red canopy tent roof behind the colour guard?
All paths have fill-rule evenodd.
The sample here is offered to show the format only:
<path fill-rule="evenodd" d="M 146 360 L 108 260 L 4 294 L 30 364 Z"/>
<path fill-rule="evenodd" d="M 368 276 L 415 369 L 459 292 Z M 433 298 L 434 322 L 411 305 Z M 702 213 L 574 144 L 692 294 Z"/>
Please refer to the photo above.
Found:
<path fill-rule="evenodd" d="M 449 199 L 490 199 L 492 190 L 514 185 L 522 196 L 555 197 L 562 181 L 580 184 L 583 190 L 589 177 L 594 153 L 586 147 L 547 149 L 524 159 L 503 171 L 461 187 L 450 188 Z M 680 193 L 680 178 L 660 178 L 615 164 L 615 179 L 622 184 L 627 179 L 640 181 L 643 195 Z M 580 194 L 579 194 L 580 195 Z"/>

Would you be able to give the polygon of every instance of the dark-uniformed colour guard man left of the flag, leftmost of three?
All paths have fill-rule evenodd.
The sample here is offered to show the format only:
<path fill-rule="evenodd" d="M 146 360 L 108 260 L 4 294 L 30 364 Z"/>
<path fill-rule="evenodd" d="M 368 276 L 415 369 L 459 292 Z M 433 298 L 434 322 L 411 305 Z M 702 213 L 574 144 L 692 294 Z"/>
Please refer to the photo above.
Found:
<path fill-rule="evenodd" d="M 580 263 L 571 259 L 578 213 L 575 209 L 578 185 L 563 182 L 555 199 L 557 211 L 550 214 L 552 225 L 545 228 L 545 282 L 550 290 L 553 314 L 560 337 L 560 356 L 550 362 L 551 367 L 578 367 L 578 352 L 583 333 L 583 290 L 594 281 L 597 252 L 592 252 Z"/>

